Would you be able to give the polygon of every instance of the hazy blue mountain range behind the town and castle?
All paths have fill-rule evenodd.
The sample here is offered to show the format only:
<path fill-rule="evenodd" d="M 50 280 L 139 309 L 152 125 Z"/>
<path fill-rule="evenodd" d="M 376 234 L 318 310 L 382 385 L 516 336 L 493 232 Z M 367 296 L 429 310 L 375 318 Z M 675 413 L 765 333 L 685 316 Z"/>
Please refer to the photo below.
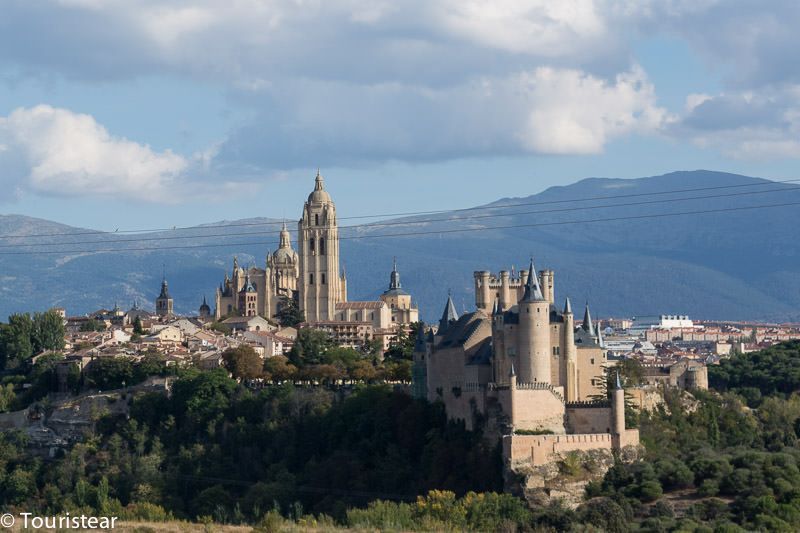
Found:
<path fill-rule="evenodd" d="M 396 257 L 428 321 L 448 291 L 459 311 L 472 308 L 473 271 L 527 268 L 531 256 L 555 271 L 559 301 L 589 301 L 595 316 L 798 321 L 798 193 L 789 183 L 704 170 L 587 178 L 471 209 L 343 227 L 341 260 L 357 300 L 387 287 Z M 222 221 L 140 235 L 0 216 L 0 317 L 53 306 L 71 315 L 115 302 L 152 307 L 164 270 L 177 312 L 195 312 L 203 296 L 213 307 L 233 256 L 263 266 L 277 224 Z M 27 244 L 35 246 L 19 247 Z M 102 251 L 111 248 L 118 251 Z"/>

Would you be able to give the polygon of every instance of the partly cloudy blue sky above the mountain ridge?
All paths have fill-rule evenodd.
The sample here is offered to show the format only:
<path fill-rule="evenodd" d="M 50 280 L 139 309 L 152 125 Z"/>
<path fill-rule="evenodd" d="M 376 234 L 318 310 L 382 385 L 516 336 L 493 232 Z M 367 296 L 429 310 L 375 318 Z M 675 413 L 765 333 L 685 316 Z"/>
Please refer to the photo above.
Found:
<path fill-rule="evenodd" d="M 348 216 L 800 177 L 796 0 L 5 0 L 0 214 Z"/>

